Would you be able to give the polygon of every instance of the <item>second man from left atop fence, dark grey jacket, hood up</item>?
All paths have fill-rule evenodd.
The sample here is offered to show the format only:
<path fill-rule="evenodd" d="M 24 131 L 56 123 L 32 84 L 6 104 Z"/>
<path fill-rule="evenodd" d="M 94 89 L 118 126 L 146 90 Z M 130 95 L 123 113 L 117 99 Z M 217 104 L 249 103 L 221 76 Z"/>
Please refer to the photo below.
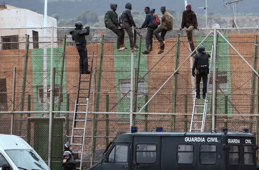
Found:
<path fill-rule="evenodd" d="M 122 22 L 122 28 L 126 30 L 130 38 L 130 51 L 135 52 L 135 51 L 138 51 L 137 49 L 135 49 L 135 48 L 138 48 L 138 46 L 136 45 L 137 26 L 131 15 L 131 9 L 132 9 L 132 5 L 130 3 L 126 3 L 125 10 L 121 14 L 121 22 Z M 134 34 L 131 29 L 132 25 L 134 26 Z"/>

